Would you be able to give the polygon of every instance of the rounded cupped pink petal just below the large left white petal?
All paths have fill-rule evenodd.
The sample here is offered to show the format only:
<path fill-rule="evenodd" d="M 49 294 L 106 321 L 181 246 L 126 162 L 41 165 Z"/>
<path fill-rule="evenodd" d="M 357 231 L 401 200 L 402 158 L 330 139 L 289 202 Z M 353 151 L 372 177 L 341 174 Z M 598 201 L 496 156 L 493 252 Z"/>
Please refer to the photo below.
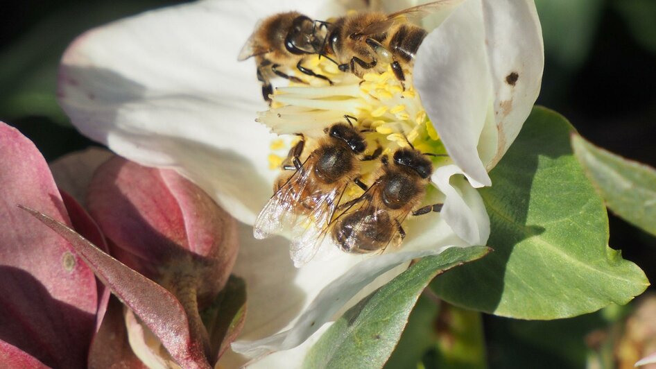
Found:
<path fill-rule="evenodd" d="M 160 283 L 167 271 L 183 271 L 205 302 L 223 289 L 236 259 L 236 222 L 189 180 L 115 157 L 96 171 L 88 204 L 123 251 L 116 255 L 132 255 L 137 271 Z"/>

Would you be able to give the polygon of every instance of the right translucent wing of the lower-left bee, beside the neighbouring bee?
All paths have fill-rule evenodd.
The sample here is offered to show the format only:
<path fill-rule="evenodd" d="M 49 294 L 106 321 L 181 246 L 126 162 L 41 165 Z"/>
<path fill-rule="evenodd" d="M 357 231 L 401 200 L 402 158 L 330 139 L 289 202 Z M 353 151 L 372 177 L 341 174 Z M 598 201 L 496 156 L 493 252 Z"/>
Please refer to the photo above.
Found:
<path fill-rule="evenodd" d="M 309 216 L 304 218 L 293 229 L 292 244 L 289 250 L 294 266 L 300 267 L 307 264 L 322 246 L 332 216 L 335 213 L 336 201 L 338 201 L 343 189 L 334 188 L 329 192 L 313 195 L 313 203 L 316 207 L 312 209 Z"/>

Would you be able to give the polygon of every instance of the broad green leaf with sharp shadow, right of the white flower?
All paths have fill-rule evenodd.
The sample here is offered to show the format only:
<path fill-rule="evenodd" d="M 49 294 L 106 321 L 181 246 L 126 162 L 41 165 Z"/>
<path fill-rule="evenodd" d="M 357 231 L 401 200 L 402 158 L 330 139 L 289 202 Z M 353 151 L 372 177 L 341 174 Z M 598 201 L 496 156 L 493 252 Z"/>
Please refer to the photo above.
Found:
<path fill-rule="evenodd" d="M 646 289 L 644 272 L 607 246 L 606 210 L 573 156 L 572 132 L 560 114 L 533 109 L 480 191 L 494 252 L 435 280 L 444 300 L 554 319 L 626 304 Z"/>

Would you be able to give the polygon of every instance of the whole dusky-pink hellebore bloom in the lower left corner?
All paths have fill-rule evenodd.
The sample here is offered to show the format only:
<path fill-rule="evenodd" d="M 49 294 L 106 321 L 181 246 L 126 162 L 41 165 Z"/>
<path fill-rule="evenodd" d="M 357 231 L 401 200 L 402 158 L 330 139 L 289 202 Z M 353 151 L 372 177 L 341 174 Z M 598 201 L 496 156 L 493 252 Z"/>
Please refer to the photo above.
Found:
<path fill-rule="evenodd" d="M 63 187 L 87 192 L 112 253 L 139 274 L 94 246 L 107 251 L 94 219 L 60 194 L 35 146 L 1 122 L 0 155 L 0 361 L 12 368 L 155 368 L 172 360 L 209 368 L 217 361 L 243 317 L 221 304 L 238 246 L 234 218 L 173 171 L 119 157 L 95 171 L 107 159 L 96 152 L 55 162 Z M 75 181 L 67 175 L 73 167 Z M 204 310 L 209 320 L 201 320 Z M 233 327 L 222 325 L 231 314 Z"/>

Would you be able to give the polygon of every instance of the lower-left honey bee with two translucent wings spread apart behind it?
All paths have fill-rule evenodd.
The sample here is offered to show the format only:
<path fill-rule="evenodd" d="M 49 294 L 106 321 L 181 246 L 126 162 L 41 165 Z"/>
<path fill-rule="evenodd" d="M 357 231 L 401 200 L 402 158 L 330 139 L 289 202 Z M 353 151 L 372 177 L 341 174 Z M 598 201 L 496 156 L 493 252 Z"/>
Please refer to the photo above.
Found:
<path fill-rule="evenodd" d="M 275 194 L 257 216 L 253 230 L 257 239 L 291 231 L 291 256 L 297 266 L 315 255 L 347 186 L 355 183 L 364 191 L 367 189 L 359 180 L 361 160 L 374 160 L 381 152 L 377 148 L 372 155 L 363 156 L 367 147 L 365 138 L 354 126 L 345 123 L 327 129 L 327 137 L 301 162 L 303 147 L 304 140 L 301 140 L 291 149 L 293 166 L 286 169 L 295 172 L 276 185 Z M 313 224 L 302 220 L 311 220 Z"/>

